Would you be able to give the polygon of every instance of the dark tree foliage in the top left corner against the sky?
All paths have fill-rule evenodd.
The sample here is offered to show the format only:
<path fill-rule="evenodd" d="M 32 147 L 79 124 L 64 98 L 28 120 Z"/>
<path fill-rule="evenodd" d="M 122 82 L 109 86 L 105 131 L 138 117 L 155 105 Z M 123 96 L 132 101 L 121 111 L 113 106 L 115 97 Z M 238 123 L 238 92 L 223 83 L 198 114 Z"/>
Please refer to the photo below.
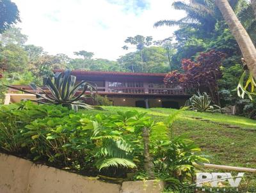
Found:
<path fill-rule="evenodd" d="M 20 22 L 20 17 L 16 4 L 10 0 L 0 0 L 0 34 L 17 22 Z"/>

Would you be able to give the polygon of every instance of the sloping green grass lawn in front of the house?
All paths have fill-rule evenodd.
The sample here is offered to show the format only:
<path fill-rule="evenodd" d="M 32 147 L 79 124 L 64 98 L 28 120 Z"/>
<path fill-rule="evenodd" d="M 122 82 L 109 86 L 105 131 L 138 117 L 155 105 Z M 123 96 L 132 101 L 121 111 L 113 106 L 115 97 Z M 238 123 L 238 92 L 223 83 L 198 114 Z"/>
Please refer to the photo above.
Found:
<path fill-rule="evenodd" d="M 117 111 L 137 110 L 147 112 L 155 121 L 167 121 L 175 109 L 141 109 L 135 107 L 104 107 L 104 114 L 115 114 Z M 92 111 L 96 113 L 99 111 Z M 191 117 L 204 118 L 218 123 L 236 125 L 241 128 L 227 128 L 217 123 L 207 123 Z M 243 130 L 251 128 L 252 130 Z M 255 130 L 253 130 L 255 129 Z M 240 116 L 212 114 L 207 112 L 183 111 L 173 123 L 176 135 L 187 135 L 200 146 L 202 152 L 209 156 L 212 164 L 256 168 L 256 121 Z"/>

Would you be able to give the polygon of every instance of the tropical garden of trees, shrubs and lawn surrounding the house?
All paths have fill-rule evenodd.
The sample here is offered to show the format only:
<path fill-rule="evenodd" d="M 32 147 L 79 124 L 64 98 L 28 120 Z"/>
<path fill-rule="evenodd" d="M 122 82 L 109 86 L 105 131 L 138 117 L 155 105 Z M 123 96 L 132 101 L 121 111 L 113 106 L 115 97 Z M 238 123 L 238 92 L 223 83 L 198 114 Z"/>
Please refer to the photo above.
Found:
<path fill-rule="evenodd" d="M 114 183 L 164 180 L 167 192 L 189 192 L 195 162 L 256 167 L 256 1 L 175 1 L 173 7 L 186 17 L 154 24 L 179 26 L 173 36 L 127 37 L 120 49 L 136 51 L 109 61 L 86 50 L 69 58 L 27 44 L 15 27 L 17 6 L 0 1 L 0 102 L 15 88 L 10 85 L 48 89 L 34 101 L 0 105 L 0 151 Z M 182 84 L 191 98 L 179 110 L 112 107 L 93 95 L 92 82 L 76 84 L 70 70 L 166 73 L 164 83 Z M 84 102 L 85 91 L 96 105 Z M 234 105 L 238 116 L 224 114 L 222 107 Z"/>

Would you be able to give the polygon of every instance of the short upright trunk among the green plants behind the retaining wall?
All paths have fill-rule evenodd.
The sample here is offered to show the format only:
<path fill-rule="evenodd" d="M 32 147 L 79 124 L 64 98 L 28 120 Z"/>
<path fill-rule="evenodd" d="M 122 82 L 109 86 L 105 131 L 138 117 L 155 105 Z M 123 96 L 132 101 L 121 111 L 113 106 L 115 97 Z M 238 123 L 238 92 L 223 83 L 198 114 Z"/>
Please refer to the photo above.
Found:
<path fill-rule="evenodd" d="M 154 163 L 149 153 L 149 129 L 144 127 L 142 130 L 143 144 L 144 144 L 144 169 L 150 179 L 154 178 Z"/>

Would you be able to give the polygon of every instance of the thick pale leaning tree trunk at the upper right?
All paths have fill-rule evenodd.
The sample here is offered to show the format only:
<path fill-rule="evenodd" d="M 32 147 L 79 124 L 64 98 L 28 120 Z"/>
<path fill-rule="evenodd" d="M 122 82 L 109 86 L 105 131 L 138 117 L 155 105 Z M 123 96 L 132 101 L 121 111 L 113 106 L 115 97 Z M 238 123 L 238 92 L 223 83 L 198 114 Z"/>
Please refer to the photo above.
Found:
<path fill-rule="evenodd" d="M 227 0 L 215 0 L 215 3 L 227 22 L 232 35 L 236 38 L 244 60 L 246 61 L 246 65 L 250 72 L 253 73 L 253 77 L 256 78 L 256 49 L 250 36 L 242 26 L 241 22 L 237 19 L 236 14 Z"/>

